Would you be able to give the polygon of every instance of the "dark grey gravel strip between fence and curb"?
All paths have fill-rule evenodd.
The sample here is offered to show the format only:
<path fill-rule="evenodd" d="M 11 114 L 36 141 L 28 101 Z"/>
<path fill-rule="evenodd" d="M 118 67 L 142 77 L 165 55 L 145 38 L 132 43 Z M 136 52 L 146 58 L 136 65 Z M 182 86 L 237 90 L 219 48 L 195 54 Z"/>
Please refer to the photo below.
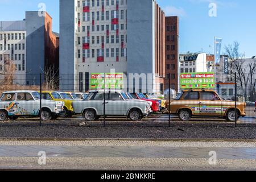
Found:
<path fill-rule="evenodd" d="M 0 122 L 0 138 L 148 138 L 148 139 L 255 139 L 256 124 L 228 122 L 89 122 L 81 121 Z"/>

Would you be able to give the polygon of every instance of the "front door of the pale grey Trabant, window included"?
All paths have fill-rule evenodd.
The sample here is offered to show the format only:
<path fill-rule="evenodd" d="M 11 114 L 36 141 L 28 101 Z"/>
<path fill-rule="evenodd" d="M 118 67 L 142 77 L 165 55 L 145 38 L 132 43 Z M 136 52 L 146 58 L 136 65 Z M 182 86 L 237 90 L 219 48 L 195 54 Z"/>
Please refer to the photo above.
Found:
<path fill-rule="evenodd" d="M 106 115 L 125 115 L 124 101 L 119 93 L 106 93 Z"/>

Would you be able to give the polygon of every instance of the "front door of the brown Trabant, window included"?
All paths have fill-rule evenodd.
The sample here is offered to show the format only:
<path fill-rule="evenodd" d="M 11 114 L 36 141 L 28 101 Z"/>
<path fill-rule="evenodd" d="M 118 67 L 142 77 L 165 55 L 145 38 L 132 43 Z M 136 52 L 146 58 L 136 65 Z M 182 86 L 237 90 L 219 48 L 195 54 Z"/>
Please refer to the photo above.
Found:
<path fill-rule="evenodd" d="M 201 109 L 201 115 L 222 115 L 221 100 L 214 92 L 201 92 L 199 105 Z"/>

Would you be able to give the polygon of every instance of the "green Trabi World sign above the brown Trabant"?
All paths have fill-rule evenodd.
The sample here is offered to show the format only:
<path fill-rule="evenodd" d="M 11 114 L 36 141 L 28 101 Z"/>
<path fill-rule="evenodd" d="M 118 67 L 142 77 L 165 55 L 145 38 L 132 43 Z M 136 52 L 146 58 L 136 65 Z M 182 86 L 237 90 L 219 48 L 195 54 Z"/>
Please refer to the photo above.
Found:
<path fill-rule="evenodd" d="M 181 89 L 215 88 L 214 73 L 180 73 Z"/>

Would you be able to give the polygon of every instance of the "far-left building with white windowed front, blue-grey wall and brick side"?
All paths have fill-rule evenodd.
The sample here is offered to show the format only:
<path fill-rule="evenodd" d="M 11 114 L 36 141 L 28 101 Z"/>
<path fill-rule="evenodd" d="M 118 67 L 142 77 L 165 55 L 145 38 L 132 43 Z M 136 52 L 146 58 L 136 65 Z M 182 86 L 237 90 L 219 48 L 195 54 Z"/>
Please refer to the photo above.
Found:
<path fill-rule="evenodd" d="M 0 22 L 0 72 L 5 61 L 16 65 L 14 84 L 39 84 L 47 67 L 59 67 L 59 38 L 46 11 L 27 11 L 22 21 Z M 44 80 L 44 77 L 42 77 Z"/>

